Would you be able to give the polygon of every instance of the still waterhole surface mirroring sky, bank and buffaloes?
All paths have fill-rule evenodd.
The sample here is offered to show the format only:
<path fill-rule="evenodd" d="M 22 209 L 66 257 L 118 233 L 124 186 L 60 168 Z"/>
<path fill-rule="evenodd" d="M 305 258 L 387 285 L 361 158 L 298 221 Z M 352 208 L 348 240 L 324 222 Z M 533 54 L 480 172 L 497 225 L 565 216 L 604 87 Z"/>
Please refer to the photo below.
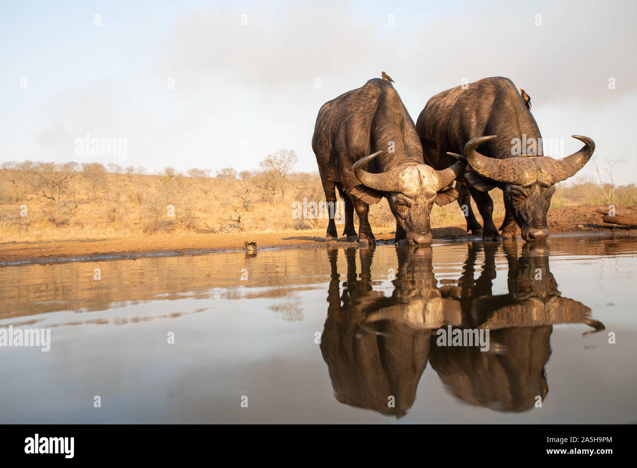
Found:
<path fill-rule="evenodd" d="M 0 267 L 52 341 L 0 347 L 0 423 L 637 422 L 636 278 L 599 237 Z"/>

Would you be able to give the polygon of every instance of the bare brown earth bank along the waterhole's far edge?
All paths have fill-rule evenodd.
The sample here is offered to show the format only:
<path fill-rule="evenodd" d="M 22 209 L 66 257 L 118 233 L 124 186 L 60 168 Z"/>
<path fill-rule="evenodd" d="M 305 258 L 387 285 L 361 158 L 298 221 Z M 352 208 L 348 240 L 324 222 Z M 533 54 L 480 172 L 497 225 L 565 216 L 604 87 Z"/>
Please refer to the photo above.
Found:
<path fill-rule="evenodd" d="M 606 206 L 566 206 L 548 212 L 548 227 L 552 234 L 600 233 L 631 234 L 637 229 L 606 224 L 597 208 Z M 617 207 L 617 215 L 637 216 L 637 206 Z M 496 219 L 499 227 L 502 219 Z M 375 232 L 376 239 L 392 240 L 394 232 L 385 229 Z M 433 229 L 434 240 L 472 239 L 464 226 Z M 519 233 L 518 233 L 519 237 Z M 166 234 L 115 239 L 71 239 L 66 241 L 38 241 L 0 243 L 0 265 L 19 262 L 50 262 L 55 260 L 89 260 L 141 255 L 178 255 L 208 253 L 223 250 L 243 250 L 243 241 L 256 241 L 260 248 L 317 246 L 325 244 L 324 230 L 294 232 L 237 232 L 229 234 Z M 347 245 L 345 238 L 339 243 Z"/>

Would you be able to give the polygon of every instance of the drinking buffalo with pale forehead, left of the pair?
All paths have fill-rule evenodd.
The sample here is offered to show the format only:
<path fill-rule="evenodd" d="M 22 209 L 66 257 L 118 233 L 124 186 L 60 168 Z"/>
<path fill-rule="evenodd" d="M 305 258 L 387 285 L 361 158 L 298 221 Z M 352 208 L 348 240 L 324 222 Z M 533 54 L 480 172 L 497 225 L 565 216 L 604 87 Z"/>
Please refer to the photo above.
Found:
<path fill-rule="evenodd" d="M 336 202 L 338 188 L 345 201 L 343 234 L 349 241 L 356 240 L 356 209 L 361 243 L 375 241 L 368 209 L 382 197 L 387 197 L 396 216 L 396 241 L 431 243 L 431 206 L 434 200 L 438 204 L 450 201 L 448 193 L 455 190 L 447 186 L 464 169 L 462 162 L 452 162 L 439 171 L 424 163 L 412 118 L 396 90 L 380 78 L 323 104 L 312 149 L 327 204 Z M 327 240 L 337 237 L 331 215 Z"/>

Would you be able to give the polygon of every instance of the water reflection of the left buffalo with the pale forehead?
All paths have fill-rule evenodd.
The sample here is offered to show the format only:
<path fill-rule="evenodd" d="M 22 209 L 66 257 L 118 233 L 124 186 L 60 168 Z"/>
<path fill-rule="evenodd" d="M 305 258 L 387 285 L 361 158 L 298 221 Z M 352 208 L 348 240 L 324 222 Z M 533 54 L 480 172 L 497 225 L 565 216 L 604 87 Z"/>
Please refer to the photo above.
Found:
<path fill-rule="evenodd" d="M 427 302 L 440 301 L 431 246 L 400 246 L 396 253 L 394 294 L 386 297 L 373 289 L 375 248 L 345 249 L 344 282 L 338 273 L 338 249 L 327 249 L 331 281 L 320 350 L 339 402 L 401 418 L 412 407 L 427 366 L 431 329 L 449 322 L 441 315 L 444 308 L 430 311 L 431 318 L 422 312 Z M 449 305 L 454 302 L 452 316 L 459 318 L 457 301 Z"/>

